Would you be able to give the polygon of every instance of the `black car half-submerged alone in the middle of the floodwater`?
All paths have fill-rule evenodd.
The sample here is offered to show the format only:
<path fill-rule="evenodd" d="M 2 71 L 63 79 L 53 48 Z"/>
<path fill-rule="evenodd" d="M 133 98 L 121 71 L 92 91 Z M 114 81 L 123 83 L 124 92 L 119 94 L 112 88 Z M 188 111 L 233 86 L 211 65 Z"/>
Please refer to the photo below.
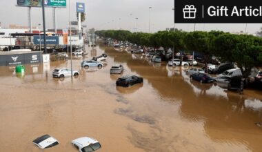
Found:
<path fill-rule="evenodd" d="M 138 77 L 136 75 L 125 75 L 123 77 L 120 77 L 119 79 L 117 79 L 117 86 L 132 86 L 134 84 L 140 84 L 143 83 L 143 77 Z"/>

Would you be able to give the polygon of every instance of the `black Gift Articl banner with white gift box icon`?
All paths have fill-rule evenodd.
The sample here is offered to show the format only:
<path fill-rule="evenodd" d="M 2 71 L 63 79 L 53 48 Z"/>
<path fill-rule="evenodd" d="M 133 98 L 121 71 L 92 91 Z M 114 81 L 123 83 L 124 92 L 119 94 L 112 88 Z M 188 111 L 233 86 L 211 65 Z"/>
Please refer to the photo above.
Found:
<path fill-rule="evenodd" d="M 175 0 L 174 23 L 262 23 L 257 0 Z"/>

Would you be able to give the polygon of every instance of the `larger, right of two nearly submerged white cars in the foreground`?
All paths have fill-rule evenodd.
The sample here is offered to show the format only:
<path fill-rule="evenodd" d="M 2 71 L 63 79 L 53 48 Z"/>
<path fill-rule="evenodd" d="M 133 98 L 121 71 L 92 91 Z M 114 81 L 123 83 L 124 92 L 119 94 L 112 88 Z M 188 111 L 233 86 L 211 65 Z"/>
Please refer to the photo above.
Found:
<path fill-rule="evenodd" d="M 79 137 L 72 140 L 72 144 L 79 152 L 92 152 L 101 148 L 99 141 L 92 139 L 91 137 Z"/>

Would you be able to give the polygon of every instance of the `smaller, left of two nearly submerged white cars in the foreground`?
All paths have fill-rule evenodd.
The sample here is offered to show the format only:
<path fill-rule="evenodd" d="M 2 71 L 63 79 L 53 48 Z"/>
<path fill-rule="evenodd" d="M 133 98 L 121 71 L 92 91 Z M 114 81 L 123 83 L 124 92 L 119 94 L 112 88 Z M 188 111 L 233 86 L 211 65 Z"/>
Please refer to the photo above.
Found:
<path fill-rule="evenodd" d="M 33 143 L 39 146 L 40 149 L 48 149 L 59 144 L 59 142 L 50 135 L 42 135 L 41 137 L 37 137 Z"/>

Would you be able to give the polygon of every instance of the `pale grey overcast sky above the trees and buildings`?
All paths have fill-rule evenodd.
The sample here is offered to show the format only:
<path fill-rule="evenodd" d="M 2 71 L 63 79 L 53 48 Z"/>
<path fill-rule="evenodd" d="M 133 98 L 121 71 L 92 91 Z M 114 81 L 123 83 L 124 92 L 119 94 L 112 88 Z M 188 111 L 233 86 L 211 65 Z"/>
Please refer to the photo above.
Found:
<path fill-rule="evenodd" d="M 88 28 L 96 29 L 125 29 L 138 28 L 139 31 L 149 31 L 149 16 L 151 32 L 165 30 L 174 26 L 174 0 L 70 0 L 72 21 L 77 21 L 76 2 L 85 3 L 86 19 L 83 24 Z M 28 8 L 17 7 L 17 0 L 0 0 L 0 22 L 2 28 L 8 28 L 9 24 L 28 26 Z M 57 28 L 68 28 L 69 0 L 67 8 L 57 8 Z M 149 7 L 151 15 L 149 15 Z M 41 8 L 32 8 L 32 26 L 42 24 Z M 138 18 L 137 21 L 135 18 Z M 52 27 L 52 8 L 46 8 L 46 26 Z M 194 24 L 175 24 L 176 28 L 185 31 L 194 30 Z M 262 23 L 250 23 L 247 32 L 254 34 Z M 211 24 L 198 23 L 196 30 L 223 30 L 227 32 L 245 31 L 245 23 L 239 24 Z"/>

